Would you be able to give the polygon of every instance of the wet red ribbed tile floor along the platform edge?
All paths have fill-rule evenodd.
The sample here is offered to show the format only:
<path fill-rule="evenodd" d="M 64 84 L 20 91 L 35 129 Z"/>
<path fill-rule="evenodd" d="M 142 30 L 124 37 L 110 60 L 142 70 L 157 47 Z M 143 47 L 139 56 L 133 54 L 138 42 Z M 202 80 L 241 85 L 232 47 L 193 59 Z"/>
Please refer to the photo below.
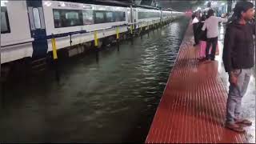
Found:
<path fill-rule="evenodd" d="M 218 62 L 198 62 L 189 26 L 146 143 L 241 143 L 244 134 L 224 127 L 226 89 Z"/>

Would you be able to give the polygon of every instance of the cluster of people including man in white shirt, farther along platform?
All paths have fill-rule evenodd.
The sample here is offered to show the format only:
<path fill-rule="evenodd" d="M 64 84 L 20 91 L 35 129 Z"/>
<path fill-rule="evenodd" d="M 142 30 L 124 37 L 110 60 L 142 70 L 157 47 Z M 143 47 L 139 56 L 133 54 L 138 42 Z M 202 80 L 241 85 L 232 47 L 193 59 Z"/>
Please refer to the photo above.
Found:
<path fill-rule="evenodd" d="M 202 16 L 201 16 L 202 15 Z M 227 16 L 227 14 L 226 14 Z M 197 12 L 192 15 L 194 31 L 194 46 L 200 44 L 200 61 L 214 61 L 216 50 L 218 50 L 218 24 L 227 22 L 226 18 L 214 16 L 214 10 L 210 9 L 201 14 Z"/>

